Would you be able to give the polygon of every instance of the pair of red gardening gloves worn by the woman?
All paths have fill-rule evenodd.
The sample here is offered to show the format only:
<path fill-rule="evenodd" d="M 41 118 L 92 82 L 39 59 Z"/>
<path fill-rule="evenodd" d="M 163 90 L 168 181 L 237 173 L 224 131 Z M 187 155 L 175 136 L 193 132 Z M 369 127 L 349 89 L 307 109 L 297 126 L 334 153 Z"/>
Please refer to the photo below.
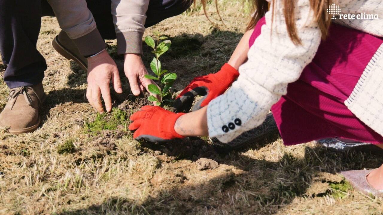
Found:
<path fill-rule="evenodd" d="M 193 111 L 208 105 L 211 100 L 223 94 L 239 76 L 239 72 L 229 64 L 223 65 L 217 73 L 194 78 L 175 99 L 173 106 L 177 111 L 190 110 L 196 95 L 203 96 L 193 106 Z M 136 130 L 133 138 L 150 142 L 164 142 L 174 138 L 183 138 L 174 130 L 177 119 L 185 113 L 173 113 L 160 107 L 144 106 L 134 113 L 129 130 Z"/>

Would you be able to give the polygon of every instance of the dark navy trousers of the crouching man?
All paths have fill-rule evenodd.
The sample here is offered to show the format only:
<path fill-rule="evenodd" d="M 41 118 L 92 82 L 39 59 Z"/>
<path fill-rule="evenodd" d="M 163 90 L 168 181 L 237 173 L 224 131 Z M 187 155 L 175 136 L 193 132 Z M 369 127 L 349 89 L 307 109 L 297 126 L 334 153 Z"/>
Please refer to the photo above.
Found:
<path fill-rule="evenodd" d="M 179 15 L 193 0 L 150 0 L 145 27 Z M 87 0 L 104 39 L 116 39 L 111 0 Z M 54 16 L 46 0 L 0 0 L 0 52 L 8 67 L 4 81 L 9 88 L 33 86 L 44 78 L 46 62 L 36 49 L 41 16 Z"/>

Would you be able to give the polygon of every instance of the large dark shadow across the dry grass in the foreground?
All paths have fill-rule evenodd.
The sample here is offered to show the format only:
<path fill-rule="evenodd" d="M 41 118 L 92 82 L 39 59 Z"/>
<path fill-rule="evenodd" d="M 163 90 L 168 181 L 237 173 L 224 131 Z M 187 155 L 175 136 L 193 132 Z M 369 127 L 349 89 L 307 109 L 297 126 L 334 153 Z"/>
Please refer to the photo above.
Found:
<path fill-rule="evenodd" d="M 312 178 L 321 172 L 375 168 L 381 162 L 378 156 L 333 153 L 322 147 L 306 147 L 303 158 L 285 153 L 277 162 L 233 152 L 220 163 L 236 163 L 246 171 L 226 171 L 202 183 L 184 178 L 183 185 L 162 189 L 144 200 L 111 197 L 102 204 L 60 214 L 274 214 L 295 197 L 332 195 L 331 189 L 315 196 L 306 194 Z"/>

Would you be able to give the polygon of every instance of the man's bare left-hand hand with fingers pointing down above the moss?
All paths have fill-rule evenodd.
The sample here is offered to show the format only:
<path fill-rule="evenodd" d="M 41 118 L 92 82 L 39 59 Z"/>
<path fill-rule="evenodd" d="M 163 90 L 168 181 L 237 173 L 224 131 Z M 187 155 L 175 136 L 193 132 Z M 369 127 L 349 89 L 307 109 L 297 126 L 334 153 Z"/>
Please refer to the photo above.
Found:
<path fill-rule="evenodd" d="M 109 56 L 106 50 L 100 54 L 88 58 L 88 88 L 87 99 L 93 108 L 103 113 L 104 108 L 101 103 L 101 95 L 105 102 L 106 111 L 112 109 L 112 99 L 110 96 L 110 80 L 116 93 L 122 93 L 121 80 L 115 61 Z"/>

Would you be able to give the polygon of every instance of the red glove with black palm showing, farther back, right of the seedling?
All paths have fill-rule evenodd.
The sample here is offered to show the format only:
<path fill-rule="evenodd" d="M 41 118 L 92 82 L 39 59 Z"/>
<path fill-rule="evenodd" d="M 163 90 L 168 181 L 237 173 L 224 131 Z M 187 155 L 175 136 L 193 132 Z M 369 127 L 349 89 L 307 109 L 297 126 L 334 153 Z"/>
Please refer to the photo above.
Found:
<path fill-rule="evenodd" d="M 192 111 L 196 111 L 223 94 L 238 76 L 239 72 L 234 67 L 224 64 L 217 73 L 194 78 L 175 99 L 173 107 L 180 112 L 189 111 L 194 96 L 204 96 L 193 106 Z"/>

